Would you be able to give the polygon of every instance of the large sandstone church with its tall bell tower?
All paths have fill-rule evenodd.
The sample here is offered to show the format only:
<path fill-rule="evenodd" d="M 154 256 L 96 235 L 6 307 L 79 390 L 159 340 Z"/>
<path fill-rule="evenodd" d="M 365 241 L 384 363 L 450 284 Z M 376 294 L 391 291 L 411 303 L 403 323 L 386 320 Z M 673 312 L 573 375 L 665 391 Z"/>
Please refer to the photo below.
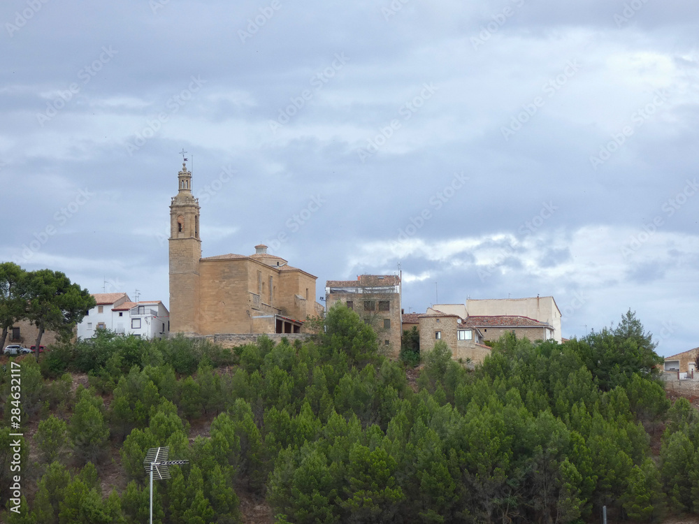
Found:
<path fill-rule="evenodd" d="M 199 200 L 182 163 L 170 205 L 170 331 L 185 335 L 303 333 L 315 301 L 317 277 L 255 246 L 249 256 L 201 258 Z"/>

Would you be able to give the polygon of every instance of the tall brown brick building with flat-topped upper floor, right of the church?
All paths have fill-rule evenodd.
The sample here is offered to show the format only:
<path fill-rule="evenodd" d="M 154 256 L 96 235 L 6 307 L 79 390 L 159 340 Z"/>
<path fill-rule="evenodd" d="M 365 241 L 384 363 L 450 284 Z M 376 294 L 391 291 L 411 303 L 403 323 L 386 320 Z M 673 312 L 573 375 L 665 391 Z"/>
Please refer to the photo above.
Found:
<path fill-rule="evenodd" d="M 359 275 L 356 280 L 328 280 L 326 306 L 336 302 L 354 310 L 374 328 L 380 349 L 398 358 L 401 353 L 401 277 L 398 275 Z"/>

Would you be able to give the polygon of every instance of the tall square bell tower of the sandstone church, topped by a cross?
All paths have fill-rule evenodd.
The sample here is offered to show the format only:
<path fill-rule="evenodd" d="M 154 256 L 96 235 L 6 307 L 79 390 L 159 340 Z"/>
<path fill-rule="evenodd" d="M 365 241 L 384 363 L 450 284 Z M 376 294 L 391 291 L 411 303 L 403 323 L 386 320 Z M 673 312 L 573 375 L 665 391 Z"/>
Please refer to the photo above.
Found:
<path fill-rule="evenodd" d="M 199 333 L 199 199 L 192 195 L 187 159 L 170 205 L 170 331 Z"/>

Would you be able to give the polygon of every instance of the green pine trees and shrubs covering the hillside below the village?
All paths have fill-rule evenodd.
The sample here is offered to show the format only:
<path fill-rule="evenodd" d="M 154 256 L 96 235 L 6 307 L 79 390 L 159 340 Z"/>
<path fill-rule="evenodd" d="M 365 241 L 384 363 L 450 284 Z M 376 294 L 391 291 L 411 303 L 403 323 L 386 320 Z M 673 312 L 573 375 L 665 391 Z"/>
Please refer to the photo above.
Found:
<path fill-rule="evenodd" d="M 243 496 L 277 523 L 575 523 L 604 505 L 658 521 L 699 510 L 699 414 L 670 406 L 658 361 L 630 312 L 562 345 L 503 337 L 473 371 L 438 344 L 417 384 L 340 306 L 305 344 L 101 333 L 21 360 L 22 514 L 3 516 L 147 522 L 143 459 L 169 446 L 189 465 L 154 483 L 158 523 L 241 522 Z M 5 504 L 9 366 L 0 377 Z"/>

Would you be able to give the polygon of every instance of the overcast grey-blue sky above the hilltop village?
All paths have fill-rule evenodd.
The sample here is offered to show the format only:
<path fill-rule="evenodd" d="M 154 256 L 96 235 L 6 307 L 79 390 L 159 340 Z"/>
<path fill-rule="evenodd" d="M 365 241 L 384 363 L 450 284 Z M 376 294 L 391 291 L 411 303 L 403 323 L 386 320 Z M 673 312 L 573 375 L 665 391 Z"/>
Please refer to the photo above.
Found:
<path fill-rule="evenodd" d="M 203 256 L 403 271 L 405 311 L 552 295 L 699 346 L 692 0 L 6 0 L 0 260 L 168 303 Z M 106 281 L 106 282 L 105 282 Z"/>

